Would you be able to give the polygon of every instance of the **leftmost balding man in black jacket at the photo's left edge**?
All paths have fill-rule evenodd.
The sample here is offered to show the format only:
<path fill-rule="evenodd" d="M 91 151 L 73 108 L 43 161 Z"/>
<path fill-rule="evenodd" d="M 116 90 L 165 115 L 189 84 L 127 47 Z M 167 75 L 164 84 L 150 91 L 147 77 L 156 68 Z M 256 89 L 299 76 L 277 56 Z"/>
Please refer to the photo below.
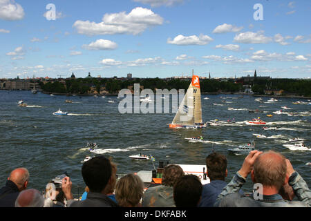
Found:
<path fill-rule="evenodd" d="M 6 186 L 0 189 L 0 207 L 14 207 L 19 192 L 28 185 L 29 172 L 26 168 L 17 168 L 10 173 Z"/>

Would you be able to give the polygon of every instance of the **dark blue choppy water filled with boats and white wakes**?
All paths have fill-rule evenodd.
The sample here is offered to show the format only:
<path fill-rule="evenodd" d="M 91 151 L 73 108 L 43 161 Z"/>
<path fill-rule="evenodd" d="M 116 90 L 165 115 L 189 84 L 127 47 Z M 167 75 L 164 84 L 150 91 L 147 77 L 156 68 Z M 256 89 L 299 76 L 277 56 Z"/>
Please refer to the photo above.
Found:
<path fill-rule="evenodd" d="M 203 99 L 209 97 L 210 99 Z M 221 97 L 226 97 L 223 99 Z M 305 138 L 305 144 L 311 148 L 310 105 L 292 104 L 307 99 L 280 98 L 278 102 L 255 102 L 257 97 L 239 95 L 202 95 L 202 118 L 204 122 L 212 119 L 227 121 L 234 118 L 235 124 L 209 126 L 205 129 L 169 129 L 175 114 L 120 114 L 117 97 L 52 97 L 43 93 L 33 95 L 30 91 L 0 91 L 0 186 L 17 167 L 23 166 L 30 171 L 29 188 L 44 190 L 48 181 L 64 171 L 73 180 L 73 192 L 81 194 L 84 181 L 81 175 L 81 161 L 91 154 L 84 148 L 87 142 L 96 142 L 102 154 L 113 157 L 117 164 L 117 173 L 133 173 L 140 170 L 153 170 L 151 161 L 135 161 L 129 155 L 138 153 L 153 155 L 158 161 L 174 164 L 205 164 L 205 157 L 214 149 L 227 156 L 227 182 L 241 168 L 245 156 L 231 155 L 229 148 L 245 144 L 252 140 L 260 151 L 279 151 L 292 162 L 304 180 L 311 184 L 311 151 L 290 151 L 282 144 L 294 137 Z M 19 107 L 17 102 L 23 99 L 28 107 Z M 65 103 L 66 99 L 73 101 Z M 115 104 L 109 103 L 109 99 Z M 230 102 L 224 103 L 222 101 Z M 214 105 L 223 104 L 223 106 Z M 276 115 L 272 112 L 287 105 L 298 113 L 295 116 Z M 261 107 L 259 107 L 261 106 Z M 52 113 L 61 108 L 68 116 L 55 116 Z M 247 110 L 261 110 L 266 113 L 249 113 Z M 273 117 L 267 117 L 272 114 Z M 247 126 L 245 122 L 261 117 L 267 126 L 280 130 L 263 131 L 262 126 Z M 253 133 L 269 138 L 256 138 Z M 189 143 L 186 137 L 202 135 L 208 143 Z M 77 187 L 79 186 L 79 187 Z M 247 178 L 244 191 L 252 189 Z"/>

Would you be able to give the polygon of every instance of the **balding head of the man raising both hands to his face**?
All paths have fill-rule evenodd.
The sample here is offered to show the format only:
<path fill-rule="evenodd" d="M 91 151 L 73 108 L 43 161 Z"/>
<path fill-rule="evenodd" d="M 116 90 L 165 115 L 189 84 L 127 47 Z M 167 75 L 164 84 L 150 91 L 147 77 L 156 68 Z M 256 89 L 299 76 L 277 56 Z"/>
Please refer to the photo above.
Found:
<path fill-rule="evenodd" d="M 252 181 L 263 187 L 274 187 L 279 191 L 288 182 L 285 157 L 274 151 L 267 151 L 257 157 L 252 170 Z"/>

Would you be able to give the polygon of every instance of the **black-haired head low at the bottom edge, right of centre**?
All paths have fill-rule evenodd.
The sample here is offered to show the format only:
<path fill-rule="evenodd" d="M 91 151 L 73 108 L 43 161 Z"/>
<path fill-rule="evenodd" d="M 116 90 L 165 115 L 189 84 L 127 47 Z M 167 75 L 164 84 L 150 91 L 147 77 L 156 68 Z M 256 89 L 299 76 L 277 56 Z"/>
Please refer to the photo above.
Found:
<path fill-rule="evenodd" d="M 202 183 L 196 175 L 184 175 L 173 186 L 176 207 L 196 207 L 202 195 Z"/>

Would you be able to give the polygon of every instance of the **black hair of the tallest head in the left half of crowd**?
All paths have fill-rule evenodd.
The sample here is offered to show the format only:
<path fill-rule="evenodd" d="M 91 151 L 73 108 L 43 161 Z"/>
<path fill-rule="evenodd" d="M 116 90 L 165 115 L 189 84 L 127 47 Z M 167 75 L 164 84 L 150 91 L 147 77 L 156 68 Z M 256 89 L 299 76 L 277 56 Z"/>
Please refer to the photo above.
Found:
<path fill-rule="evenodd" d="M 111 177 L 111 162 L 104 156 L 94 157 L 82 166 L 83 180 L 91 192 L 100 193 Z"/>

